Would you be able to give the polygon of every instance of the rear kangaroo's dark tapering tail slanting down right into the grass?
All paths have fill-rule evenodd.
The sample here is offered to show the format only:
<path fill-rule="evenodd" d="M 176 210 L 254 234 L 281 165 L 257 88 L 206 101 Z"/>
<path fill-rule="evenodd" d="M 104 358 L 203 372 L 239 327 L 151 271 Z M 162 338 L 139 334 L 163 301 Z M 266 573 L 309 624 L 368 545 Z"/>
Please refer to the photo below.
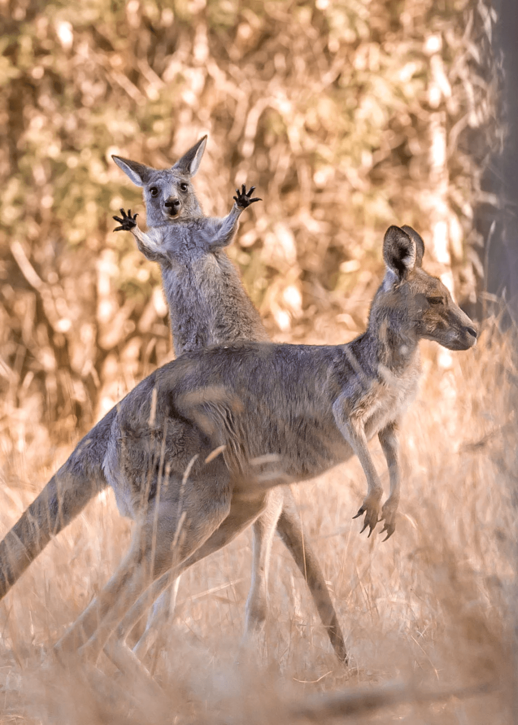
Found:
<path fill-rule="evenodd" d="M 348 654 L 345 649 L 344 636 L 342 629 L 340 629 L 337 613 L 334 611 L 324 574 L 308 539 L 304 537 L 300 516 L 297 513 L 292 493 L 288 487 L 284 491 L 286 491 L 286 494 L 284 495 L 284 506 L 277 522 L 277 533 L 286 544 L 289 552 L 291 552 L 295 563 L 308 584 L 313 602 L 315 602 L 318 614 L 327 630 L 337 658 L 340 662 L 347 664 Z"/>

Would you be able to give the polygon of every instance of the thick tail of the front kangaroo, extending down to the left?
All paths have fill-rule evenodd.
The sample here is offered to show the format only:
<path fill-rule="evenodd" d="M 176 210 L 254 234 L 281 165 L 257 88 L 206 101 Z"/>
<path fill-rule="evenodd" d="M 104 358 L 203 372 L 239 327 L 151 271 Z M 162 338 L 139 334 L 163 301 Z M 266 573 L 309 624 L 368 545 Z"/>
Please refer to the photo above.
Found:
<path fill-rule="evenodd" d="M 0 542 L 0 599 L 52 537 L 106 488 L 102 463 L 114 415 L 115 409 L 91 429 Z"/>

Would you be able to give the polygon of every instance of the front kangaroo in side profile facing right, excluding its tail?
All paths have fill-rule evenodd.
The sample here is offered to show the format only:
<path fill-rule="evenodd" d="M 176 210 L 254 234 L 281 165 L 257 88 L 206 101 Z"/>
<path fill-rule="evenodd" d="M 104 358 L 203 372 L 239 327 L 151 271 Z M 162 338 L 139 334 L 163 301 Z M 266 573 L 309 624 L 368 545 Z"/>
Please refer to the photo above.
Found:
<path fill-rule="evenodd" d="M 311 479 L 353 455 L 367 480 L 365 523 L 372 531 L 381 517 L 392 531 L 400 495 L 397 428 L 416 393 L 419 340 L 451 350 L 477 340 L 472 320 L 422 269 L 423 254 L 413 229 L 387 230 L 385 278 L 366 331 L 348 344 L 237 341 L 186 352 L 120 402 L 105 429 L 102 467 L 119 508 L 139 525 L 126 559 L 59 640 L 58 653 L 81 646 L 96 660 L 118 625 L 123 634 L 168 586 L 170 572 L 178 576 L 257 518 L 263 492 Z M 383 506 L 367 446 L 375 435 L 389 471 Z M 1 544 L 2 593 L 17 571 L 13 558 L 20 567 L 25 554 L 20 534 L 24 527 Z"/>

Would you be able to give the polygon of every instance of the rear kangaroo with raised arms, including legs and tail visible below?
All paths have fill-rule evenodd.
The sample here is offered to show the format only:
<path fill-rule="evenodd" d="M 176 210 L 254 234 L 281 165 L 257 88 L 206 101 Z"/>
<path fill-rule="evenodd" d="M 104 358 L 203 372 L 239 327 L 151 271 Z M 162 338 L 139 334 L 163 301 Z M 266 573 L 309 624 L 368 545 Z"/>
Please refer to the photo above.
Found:
<path fill-rule="evenodd" d="M 191 179 L 200 167 L 207 136 L 194 144 L 176 164 L 166 170 L 112 156 L 115 163 L 137 186 L 144 189 L 147 233 L 136 224 L 136 216 L 121 209 L 114 217 L 115 231 L 131 231 L 139 250 L 158 262 L 176 356 L 214 344 L 237 340 L 267 341 L 260 315 L 248 297 L 236 268 L 224 247 L 237 231 L 239 215 L 250 204 L 255 187 L 236 189 L 234 206 L 224 219 L 207 218 L 192 187 Z M 345 642 L 318 560 L 300 527 L 300 518 L 289 488 L 268 492 L 265 510 L 252 525 L 252 584 L 246 606 L 247 634 L 262 629 L 266 621 L 268 560 L 277 529 L 305 576 L 321 620 L 340 660 L 346 659 Z M 149 616 L 147 628 L 133 647 L 142 657 L 174 606 L 178 579 L 171 595 L 164 592 Z"/>

